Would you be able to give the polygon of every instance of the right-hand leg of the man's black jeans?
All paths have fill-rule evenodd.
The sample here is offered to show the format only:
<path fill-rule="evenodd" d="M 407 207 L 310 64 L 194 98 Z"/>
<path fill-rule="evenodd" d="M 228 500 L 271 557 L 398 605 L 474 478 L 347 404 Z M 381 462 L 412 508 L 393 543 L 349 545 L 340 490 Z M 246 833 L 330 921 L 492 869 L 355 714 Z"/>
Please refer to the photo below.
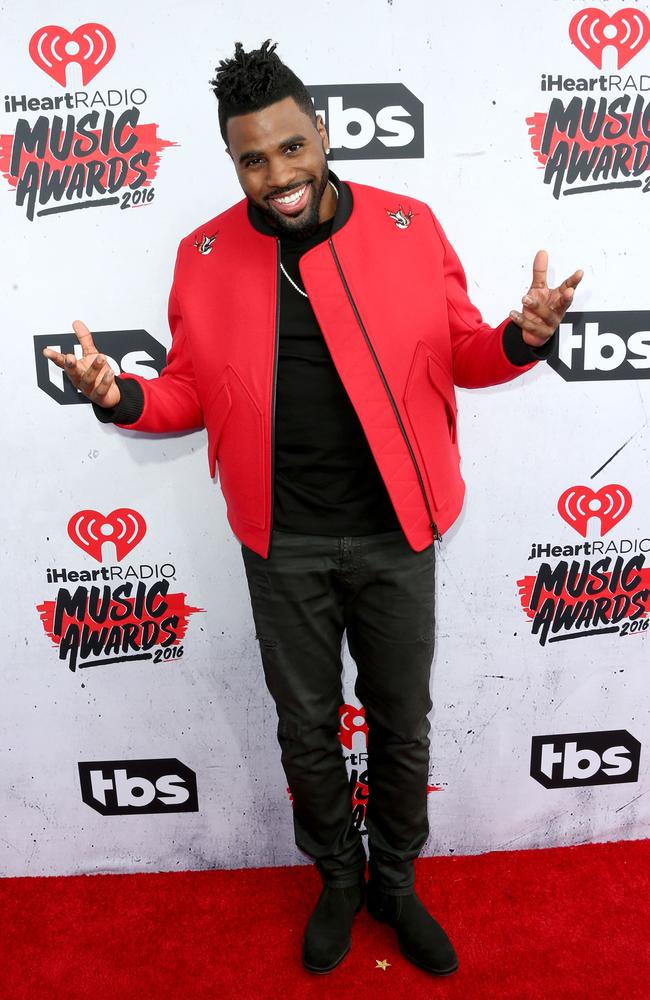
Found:
<path fill-rule="evenodd" d="M 414 552 L 401 532 L 353 542 L 345 621 L 368 723 L 370 871 L 400 895 L 413 886 L 413 860 L 429 833 L 435 553 L 433 545 Z"/>

